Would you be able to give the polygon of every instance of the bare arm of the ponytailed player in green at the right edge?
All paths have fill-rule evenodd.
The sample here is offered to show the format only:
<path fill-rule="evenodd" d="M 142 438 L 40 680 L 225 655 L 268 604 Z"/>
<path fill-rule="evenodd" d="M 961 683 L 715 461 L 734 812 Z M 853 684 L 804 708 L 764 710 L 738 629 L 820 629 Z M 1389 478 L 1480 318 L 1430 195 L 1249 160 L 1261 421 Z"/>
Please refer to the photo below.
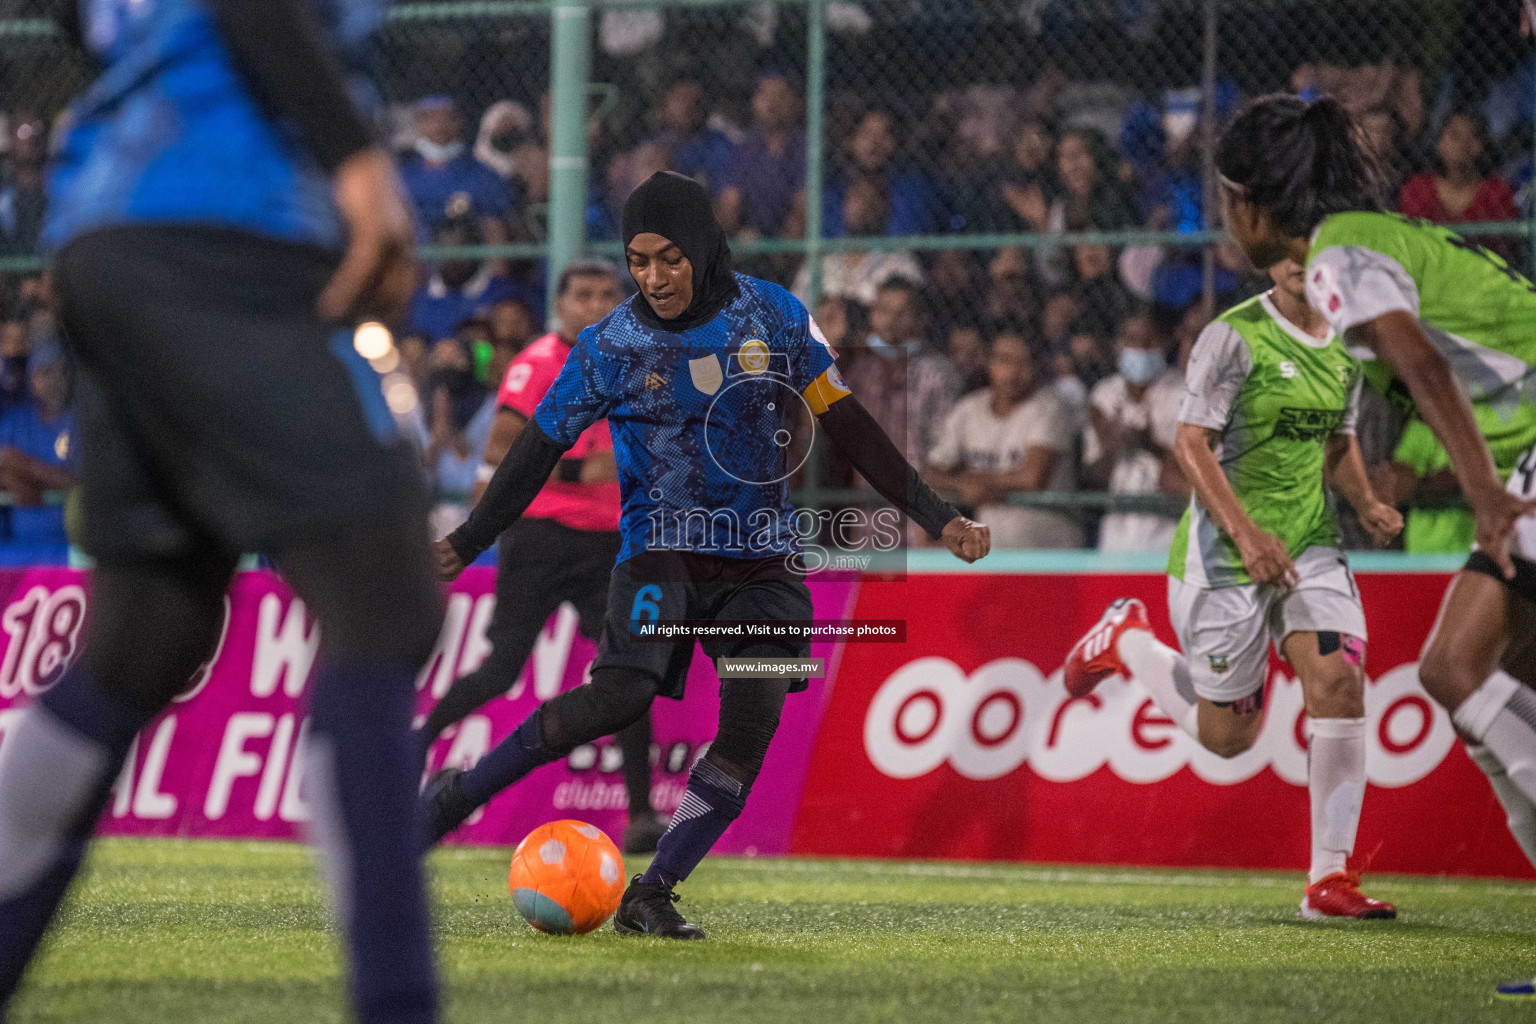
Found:
<path fill-rule="evenodd" d="M 1487 551 L 1507 579 L 1514 576 L 1508 539 L 1514 520 L 1536 511 L 1536 502 L 1522 502 L 1499 484 L 1488 445 L 1471 416 L 1471 405 L 1419 321 L 1405 310 L 1393 310 L 1355 329 L 1372 350 L 1409 385 L 1424 422 L 1445 447 L 1462 494 L 1478 519 L 1478 548 Z"/>

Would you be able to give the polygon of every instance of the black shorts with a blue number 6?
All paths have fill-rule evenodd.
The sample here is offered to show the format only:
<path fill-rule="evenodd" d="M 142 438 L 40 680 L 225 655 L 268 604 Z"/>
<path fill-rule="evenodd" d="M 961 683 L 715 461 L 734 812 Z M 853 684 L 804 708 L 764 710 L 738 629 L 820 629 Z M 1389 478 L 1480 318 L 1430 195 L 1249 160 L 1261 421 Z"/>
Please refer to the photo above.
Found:
<path fill-rule="evenodd" d="M 682 700 L 694 640 L 642 640 L 636 622 L 809 622 L 811 588 L 783 557 L 728 559 L 684 551 L 642 551 L 619 562 L 608 583 L 608 617 L 598 642 L 599 668 L 631 668 L 653 676 L 657 694 Z M 711 659 L 757 656 L 809 657 L 809 640 L 707 640 Z M 809 686 L 799 679 L 797 692 Z"/>

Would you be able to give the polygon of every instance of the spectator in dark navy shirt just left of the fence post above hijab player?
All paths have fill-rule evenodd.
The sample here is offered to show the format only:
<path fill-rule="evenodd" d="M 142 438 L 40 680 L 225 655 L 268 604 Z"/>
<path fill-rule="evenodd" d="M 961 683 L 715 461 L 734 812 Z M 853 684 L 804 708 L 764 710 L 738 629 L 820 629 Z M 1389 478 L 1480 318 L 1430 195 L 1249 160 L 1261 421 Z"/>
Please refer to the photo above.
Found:
<path fill-rule="evenodd" d="M 805 232 L 805 132 L 800 95 L 782 72 L 757 78 L 753 130 L 736 147 L 716 216 L 731 235 L 799 238 Z"/>

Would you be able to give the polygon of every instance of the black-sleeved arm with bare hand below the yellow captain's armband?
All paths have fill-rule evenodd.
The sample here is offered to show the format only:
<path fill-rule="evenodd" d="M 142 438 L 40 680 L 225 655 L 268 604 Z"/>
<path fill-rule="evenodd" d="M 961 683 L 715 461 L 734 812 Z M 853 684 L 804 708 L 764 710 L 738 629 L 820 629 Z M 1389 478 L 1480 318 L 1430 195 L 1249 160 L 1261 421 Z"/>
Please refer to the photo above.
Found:
<path fill-rule="evenodd" d="M 992 550 L 992 531 L 934 494 L 859 399 L 843 395 L 817 418 L 826 436 L 880 496 L 957 557 L 975 562 Z"/>

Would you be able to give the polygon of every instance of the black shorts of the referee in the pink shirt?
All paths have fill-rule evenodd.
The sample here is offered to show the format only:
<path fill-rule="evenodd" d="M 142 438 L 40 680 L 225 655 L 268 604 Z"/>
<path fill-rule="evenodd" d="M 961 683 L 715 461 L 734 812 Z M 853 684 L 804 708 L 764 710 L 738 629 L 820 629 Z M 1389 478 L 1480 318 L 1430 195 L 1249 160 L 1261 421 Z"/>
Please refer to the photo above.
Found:
<path fill-rule="evenodd" d="M 496 611 L 487 629 L 492 648 L 502 634 L 542 629 L 564 602 L 576 606 L 582 636 L 596 640 L 619 545 L 617 530 L 574 530 L 554 519 L 511 524 L 496 547 Z"/>

